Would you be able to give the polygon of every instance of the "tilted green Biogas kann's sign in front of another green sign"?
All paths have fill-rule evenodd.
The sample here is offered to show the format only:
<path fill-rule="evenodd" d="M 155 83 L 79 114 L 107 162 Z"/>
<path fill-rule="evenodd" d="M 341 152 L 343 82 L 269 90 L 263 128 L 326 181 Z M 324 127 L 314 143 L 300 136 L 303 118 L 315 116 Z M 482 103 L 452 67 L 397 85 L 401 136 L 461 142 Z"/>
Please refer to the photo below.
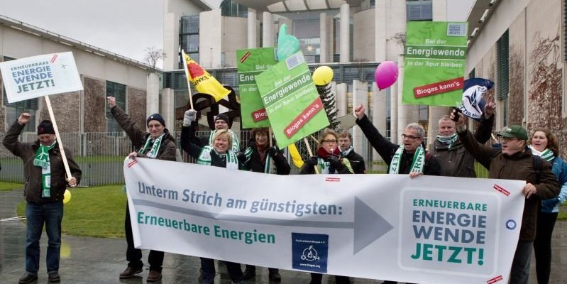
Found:
<path fill-rule="evenodd" d="M 255 79 L 280 148 L 329 125 L 301 52 L 278 62 Z"/>

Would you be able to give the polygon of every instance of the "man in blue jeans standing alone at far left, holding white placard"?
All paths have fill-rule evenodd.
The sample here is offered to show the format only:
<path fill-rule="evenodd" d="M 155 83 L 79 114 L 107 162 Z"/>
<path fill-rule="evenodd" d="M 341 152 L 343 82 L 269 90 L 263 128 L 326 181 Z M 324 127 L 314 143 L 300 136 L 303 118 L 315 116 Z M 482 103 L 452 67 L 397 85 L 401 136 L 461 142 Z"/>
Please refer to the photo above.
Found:
<path fill-rule="evenodd" d="M 65 178 L 62 153 L 55 138 L 55 129 L 49 120 L 38 126 L 38 140 L 22 143 L 18 136 L 30 122 L 31 115 L 20 114 L 4 137 L 4 146 L 23 160 L 23 175 L 26 185 L 26 273 L 19 283 L 31 283 L 38 279 L 39 241 L 45 224 L 48 234 L 47 267 L 49 282 L 59 282 L 59 260 L 61 247 L 61 221 L 63 219 L 63 194 L 67 185 L 75 187 L 81 180 L 79 165 L 72 153 L 65 148 L 71 177 Z"/>

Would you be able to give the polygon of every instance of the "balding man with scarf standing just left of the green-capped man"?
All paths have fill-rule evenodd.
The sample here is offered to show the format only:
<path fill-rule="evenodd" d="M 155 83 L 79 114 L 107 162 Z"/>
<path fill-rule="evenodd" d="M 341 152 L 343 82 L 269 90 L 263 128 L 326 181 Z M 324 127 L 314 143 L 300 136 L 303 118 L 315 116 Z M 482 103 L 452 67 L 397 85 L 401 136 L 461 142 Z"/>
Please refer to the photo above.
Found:
<path fill-rule="evenodd" d="M 484 144 L 490 139 L 492 125 L 494 124 L 495 104 L 486 104 L 485 112 L 480 118 L 480 124 L 475 131 L 475 139 Z M 475 158 L 466 151 L 463 143 L 458 139 L 455 122 L 449 116 L 439 119 L 439 128 L 431 154 L 435 155 L 441 165 L 441 175 L 446 177 L 476 178 Z"/>

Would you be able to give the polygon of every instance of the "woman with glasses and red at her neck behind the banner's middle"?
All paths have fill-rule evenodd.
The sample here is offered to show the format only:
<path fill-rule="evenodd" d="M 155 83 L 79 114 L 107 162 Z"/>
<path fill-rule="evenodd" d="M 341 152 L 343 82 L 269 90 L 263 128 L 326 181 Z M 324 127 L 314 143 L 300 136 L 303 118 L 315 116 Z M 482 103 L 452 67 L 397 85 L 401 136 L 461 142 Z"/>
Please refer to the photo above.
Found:
<path fill-rule="evenodd" d="M 338 134 L 331 129 L 325 129 L 319 136 L 319 149 L 317 155 L 309 157 L 305 160 L 300 175 L 309 175 L 315 172 L 323 174 L 349 174 L 354 173 L 351 163 L 346 158 L 341 157 L 341 151 L 337 146 Z M 347 276 L 336 275 L 336 284 L 351 283 Z M 311 282 L 309 284 L 321 284 L 323 275 L 320 273 L 311 273 Z"/>

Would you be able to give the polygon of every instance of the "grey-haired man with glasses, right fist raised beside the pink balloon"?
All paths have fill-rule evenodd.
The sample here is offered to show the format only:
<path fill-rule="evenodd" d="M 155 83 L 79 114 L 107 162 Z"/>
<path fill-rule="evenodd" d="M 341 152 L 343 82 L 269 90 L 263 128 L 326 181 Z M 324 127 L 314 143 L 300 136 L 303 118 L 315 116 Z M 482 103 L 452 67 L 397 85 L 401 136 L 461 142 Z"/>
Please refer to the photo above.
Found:
<path fill-rule="evenodd" d="M 439 162 L 434 155 L 426 153 L 422 146 L 424 129 L 419 124 L 408 124 L 402 134 L 403 145 L 387 141 L 364 114 L 362 104 L 354 109 L 356 124 L 380 157 L 388 165 L 388 173 L 418 175 L 439 175 Z"/>

